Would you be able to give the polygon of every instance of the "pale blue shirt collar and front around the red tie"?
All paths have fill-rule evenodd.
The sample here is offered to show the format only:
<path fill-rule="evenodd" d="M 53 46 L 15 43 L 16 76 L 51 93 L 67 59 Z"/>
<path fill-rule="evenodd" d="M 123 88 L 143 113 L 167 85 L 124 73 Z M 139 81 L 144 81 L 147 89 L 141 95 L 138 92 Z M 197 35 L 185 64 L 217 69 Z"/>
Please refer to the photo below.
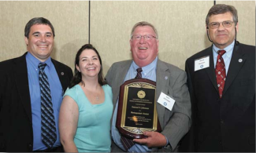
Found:
<path fill-rule="evenodd" d="M 224 50 L 226 51 L 226 53 L 224 53 L 224 55 L 222 55 L 222 58 L 224 60 L 224 64 L 225 64 L 225 69 L 226 69 L 226 76 L 228 76 L 228 68 L 229 68 L 229 64 L 232 58 L 232 53 L 233 53 L 233 49 L 234 49 L 234 45 L 235 45 L 235 41 L 232 42 L 232 44 L 230 44 L 229 46 L 225 47 Z M 213 44 L 213 61 L 214 61 L 214 67 L 216 67 L 216 62 L 217 62 L 217 51 L 219 50 L 223 50 L 223 49 L 219 49 L 217 48 L 217 46 L 215 46 Z"/>

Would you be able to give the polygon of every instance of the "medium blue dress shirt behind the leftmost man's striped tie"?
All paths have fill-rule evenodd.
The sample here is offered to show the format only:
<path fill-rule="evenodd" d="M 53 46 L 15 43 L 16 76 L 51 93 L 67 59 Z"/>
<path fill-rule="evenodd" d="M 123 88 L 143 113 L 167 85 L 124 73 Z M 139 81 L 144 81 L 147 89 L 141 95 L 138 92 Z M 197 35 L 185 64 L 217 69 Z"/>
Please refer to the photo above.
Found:
<path fill-rule="evenodd" d="M 39 68 L 38 65 L 41 62 L 32 56 L 31 53 L 26 55 L 27 68 L 28 68 L 28 84 L 30 100 L 32 105 L 32 127 L 33 127 L 33 151 L 44 150 L 46 146 L 42 142 L 41 137 L 41 96 L 39 87 Z M 58 78 L 57 71 L 51 59 L 48 58 L 44 63 L 47 64 L 44 71 L 48 77 L 50 84 L 50 95 L 52 98 L 54 108 L 54 118 L 57 133 L 57 140 L 54 143 L 54 147 L 61 146 L 60 135 L 58 130 L 58 114 L 61 107 L 63 90 L 60 79 Z"/>

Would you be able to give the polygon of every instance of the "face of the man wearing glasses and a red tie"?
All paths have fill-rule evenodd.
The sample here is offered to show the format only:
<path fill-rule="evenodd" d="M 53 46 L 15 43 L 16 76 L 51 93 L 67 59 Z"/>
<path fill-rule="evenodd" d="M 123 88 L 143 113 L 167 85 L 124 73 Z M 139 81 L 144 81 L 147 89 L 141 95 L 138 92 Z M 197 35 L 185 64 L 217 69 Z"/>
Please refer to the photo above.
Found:
<path fill-rule="evenodd" d="M 209 23 L 222 23 L 225 20 L 233 21 L 233 16 L 232 13 L 228 12 L 223 14 L 212 15 L 210 16 L 209 19 Z M 223 27 L 223 25 L 220 24 L 220 26 L 217 28 L 209 27 L 208 31 L 210 39 L 213 41 L 213 44 L 217 46 L 219 49 L 224 49 L 235 40 L 236 31 L 238 31 L 238 23 L 236 25 L 235 23 L 233 23 L 231 27 Z"/>

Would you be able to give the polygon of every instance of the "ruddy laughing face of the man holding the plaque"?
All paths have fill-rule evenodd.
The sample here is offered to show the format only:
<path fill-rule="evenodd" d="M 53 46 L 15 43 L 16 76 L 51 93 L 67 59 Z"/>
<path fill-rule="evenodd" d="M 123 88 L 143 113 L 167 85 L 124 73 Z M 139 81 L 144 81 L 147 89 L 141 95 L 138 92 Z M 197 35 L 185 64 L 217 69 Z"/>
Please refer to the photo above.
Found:
<path fill-rule="evenodd" d="M 135 28 L 132 35 L 153 35 L 156 37 L 154 30 L 150 26 L 139 26 Z M 150 64 L 156 56 L 158 56 L 158 39 L 152 38 L 145 40 L 132 39 L 130 40 L 130 46 L 132 51 L 132 58 L 139 67 L 145 67 Z"/>

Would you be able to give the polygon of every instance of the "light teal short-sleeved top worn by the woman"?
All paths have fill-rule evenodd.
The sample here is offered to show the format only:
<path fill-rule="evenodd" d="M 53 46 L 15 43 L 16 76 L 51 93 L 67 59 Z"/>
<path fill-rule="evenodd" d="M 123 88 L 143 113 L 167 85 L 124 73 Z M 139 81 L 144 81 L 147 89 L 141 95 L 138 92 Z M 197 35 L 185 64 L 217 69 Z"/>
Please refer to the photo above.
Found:
<path fill-rule="evenodd" d="M 67 89 L 65 96 L 72 97 L 79 109 L 78 124 L 74 142 L 79 152 L 110 152 L 110 119 L 113 113 L 112 89 L 102 86 L 105 101 L 91 104 L 79 86 Z"/>

